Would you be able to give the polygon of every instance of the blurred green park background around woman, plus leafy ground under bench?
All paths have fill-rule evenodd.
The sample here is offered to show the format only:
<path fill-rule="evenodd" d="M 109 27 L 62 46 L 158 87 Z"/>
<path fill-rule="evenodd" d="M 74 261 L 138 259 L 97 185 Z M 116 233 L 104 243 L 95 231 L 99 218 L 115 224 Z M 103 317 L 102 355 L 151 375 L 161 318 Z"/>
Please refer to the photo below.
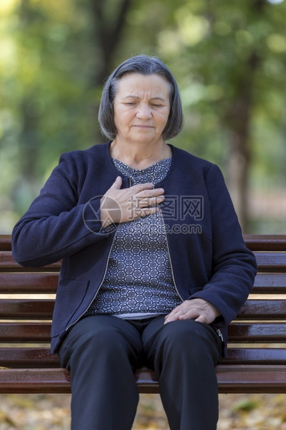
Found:
<path fill-rule="evenodd" d="M 285 234 L 283 0 L 1 0 L 0 234 L 61 153 L 107 140 L 102 84 L 139 53 L 159 56 L 177 79 L 184 130 L 170 142 L 220 166 L 244 233 Z M 285 404 L 222 396 L 218 428 L 286 429 Z M 158 396 L 143 396 L 134 425 L 168 428 Z M 68 428 L 68 396 L 1 396 L 0 430 Z"/>

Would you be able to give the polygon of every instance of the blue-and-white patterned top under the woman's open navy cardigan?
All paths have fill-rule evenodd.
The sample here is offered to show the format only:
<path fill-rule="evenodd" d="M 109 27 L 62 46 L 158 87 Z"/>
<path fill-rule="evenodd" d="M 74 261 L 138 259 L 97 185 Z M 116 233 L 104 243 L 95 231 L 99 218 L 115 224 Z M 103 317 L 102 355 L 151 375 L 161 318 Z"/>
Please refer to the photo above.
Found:
<path fill-rule="evenodd" d="M 132 184 L 161 182 L 172 158 L 147 169 L 133 169 L 113 159 Z M 122 223 L 116 230 L 105 279 L 86 315 L 105 313 L 120 318 L 148 318 L 169 313 L 181 303 L 172 279 L 161 212 Z"/>

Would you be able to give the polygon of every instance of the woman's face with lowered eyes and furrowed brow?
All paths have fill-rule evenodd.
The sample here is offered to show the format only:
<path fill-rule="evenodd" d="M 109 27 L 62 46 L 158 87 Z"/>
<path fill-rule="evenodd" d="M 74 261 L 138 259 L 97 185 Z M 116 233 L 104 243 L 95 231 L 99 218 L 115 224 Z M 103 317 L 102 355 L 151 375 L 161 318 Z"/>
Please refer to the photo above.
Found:
<path fill-rule="evenodd" d="M 156 144 L 170 113 L 170 84 L 158 74 L 126 74 L 118 81 L 114 124 L 119 141 Z"/>

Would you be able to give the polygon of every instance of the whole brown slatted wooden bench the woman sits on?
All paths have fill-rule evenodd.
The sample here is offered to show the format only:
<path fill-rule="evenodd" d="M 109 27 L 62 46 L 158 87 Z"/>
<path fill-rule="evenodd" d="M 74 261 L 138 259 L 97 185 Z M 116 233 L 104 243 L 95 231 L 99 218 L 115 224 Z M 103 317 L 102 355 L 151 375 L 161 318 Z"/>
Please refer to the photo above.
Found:
<path fill-rule="evenodd" d="M 220 393 L 286 393 L 286 235 L 246 235 L 259 273 L 229 328 L 217 366 Z M 60 263 L 22 268 L 0 236 L 0 393 L 69 393 L 69 372 L 49 352 Z M 284 295 L 284 296 L 283 296 Z M 283 345 L 284 343 L 284 345 Z M 158 393 L 154 372 L 136 372 L 141 393 Z"/>

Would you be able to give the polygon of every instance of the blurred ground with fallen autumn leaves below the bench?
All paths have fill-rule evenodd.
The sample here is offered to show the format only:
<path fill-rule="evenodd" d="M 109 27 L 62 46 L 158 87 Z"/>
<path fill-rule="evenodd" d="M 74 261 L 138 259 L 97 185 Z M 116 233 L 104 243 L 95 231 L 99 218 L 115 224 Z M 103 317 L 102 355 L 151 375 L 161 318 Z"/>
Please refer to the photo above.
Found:
<path fill-rule="evenodd" d="M 71 395 L 0 395 L 0 430 L 69 430 Z M 132 430 L 169 430 L 160 396 L 141 394 Z M 220 394 L 217 430 L 286 430 L 285 394 Z"/>

